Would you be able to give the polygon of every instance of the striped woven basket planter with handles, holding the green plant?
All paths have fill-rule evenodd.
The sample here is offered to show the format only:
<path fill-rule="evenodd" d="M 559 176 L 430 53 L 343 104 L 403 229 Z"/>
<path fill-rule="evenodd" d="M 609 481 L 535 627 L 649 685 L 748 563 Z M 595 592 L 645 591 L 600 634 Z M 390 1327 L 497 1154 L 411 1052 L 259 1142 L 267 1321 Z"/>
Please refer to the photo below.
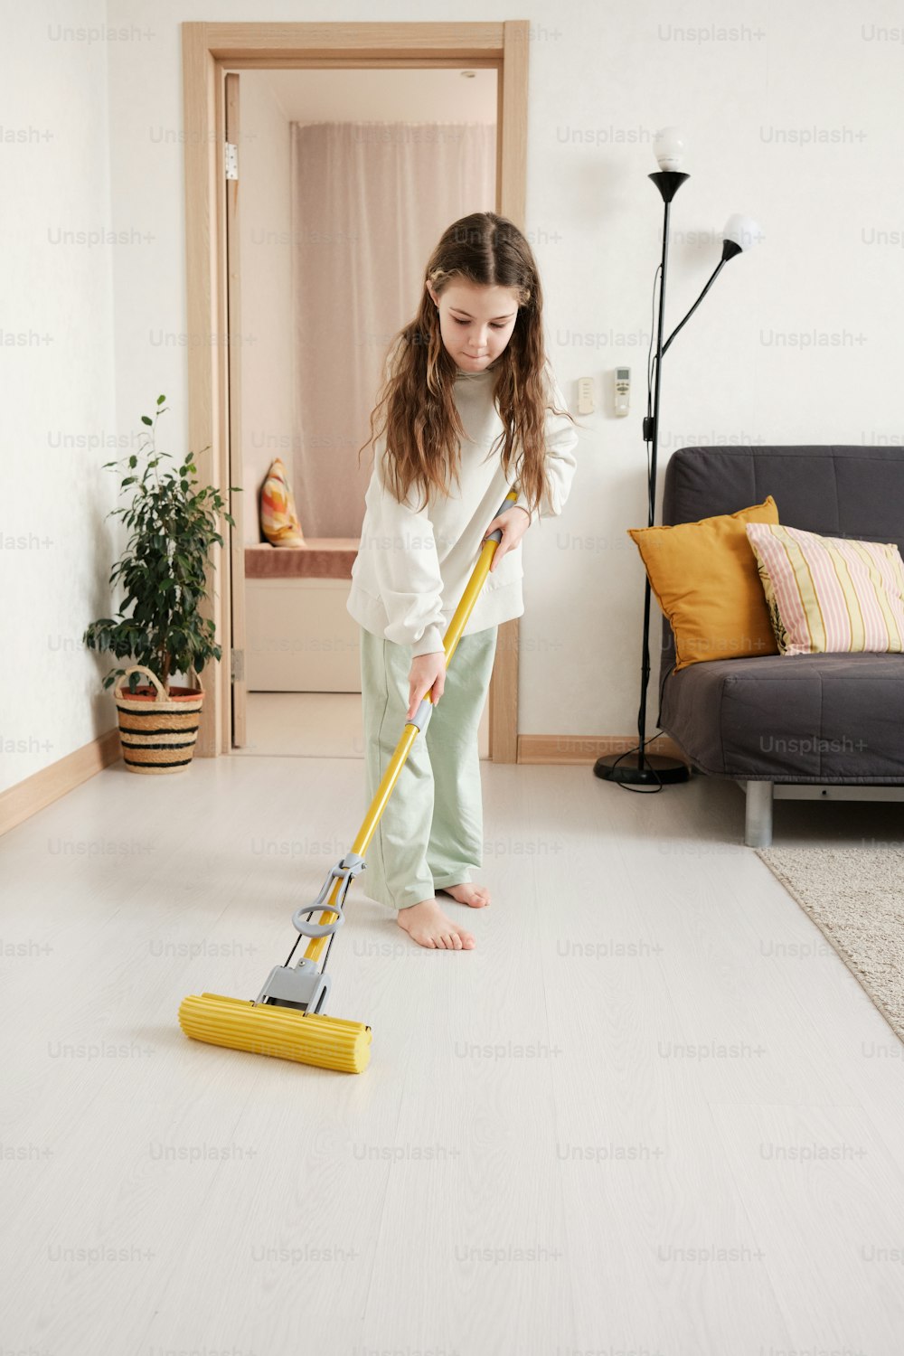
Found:
<path fill-rule="evenodd" d="M 129 674 L 134 673 L 146 674 L 153 687 L 138 687 L 133 697 L 125 689 Z M 117 683 L 112 694 L 119 712 L 122 758 L 129 772 L 183 772 L 191 762 L 205 700 L 201 678 L 194 669 L 191 673 L 198 687 L 171 687 L 168 697 L 160 679 L 144 664 L 126 669 Z"/>

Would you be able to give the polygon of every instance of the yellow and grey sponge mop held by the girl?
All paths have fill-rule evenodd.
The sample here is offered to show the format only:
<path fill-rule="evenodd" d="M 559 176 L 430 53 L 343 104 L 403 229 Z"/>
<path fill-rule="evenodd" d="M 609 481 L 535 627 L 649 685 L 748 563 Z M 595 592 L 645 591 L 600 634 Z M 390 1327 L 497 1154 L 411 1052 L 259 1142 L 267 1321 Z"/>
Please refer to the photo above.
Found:
<path fill-rule="evenodd" d="M 518 498 L 510 490 L 499 513 Z M 499 517 L 499 514 L 497 514 Z M 455 614 L 443 637 L 446 664 L 451 662 L 461 633 L 470 617 L 477 595 L 484 586 L 489 565 L 501 541 L 501 527 L 496 527 L 482 544 L 477 564 L 461 597 Z M 274 1055 L 317 1069 L 335 1069 L 346 1074 L 361 1074 L 370 1062 L 370 1026 L 342 1017 L 328 1017 L 324 1003 L 329 994 L 331 976 L 327 960 L 336 932 L 346 921 L 344 904 L 348 887 L 365 869 L 365 853 L 374 835 L 396 781 L 411 747 L 420 731 L 426 731 L 432 715 L 428 693 L 422 697 L 413 717 L 405 724 L 396 751 L 377 788 L 351 850 L 331 866 L 320 894 L 312 904 L 302 904 L 293 914 L 300 933 L 283 965 L 274 965 L 267 980 L 253 999 L 226 998 L 224 994 L 191 994 L 179 1006 L 179 1025 L 186 1036 L 203 1040 L 209 1045 L 247 1050 L 255 1055 Z M 320 911 L 313 922 L 312 914 Z M 308 938 L 308 949 L 293 965 L 291 959 Z M 324 955 L 325 952 L 325 955 Z M 320 959 L 323 956 L 323 964 Z"/>

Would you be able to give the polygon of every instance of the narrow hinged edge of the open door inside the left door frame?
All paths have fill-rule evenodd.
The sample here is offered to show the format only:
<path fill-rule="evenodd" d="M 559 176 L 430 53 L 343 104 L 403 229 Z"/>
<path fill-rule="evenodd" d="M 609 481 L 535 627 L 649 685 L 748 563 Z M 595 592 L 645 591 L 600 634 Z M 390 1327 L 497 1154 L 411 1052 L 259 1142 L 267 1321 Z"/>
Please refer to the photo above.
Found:
<path fill-rule="evenodd" d="M 241 485 L 241 273 L 239 267 L 239 76 L 226 75 L 226 336 L 229 351 L 229 484 Z M 244 749 L 245 734 L 245 534 L 243 492 L 229 496 L 229 513 L 236 526 L 229 534 L 232 570 L 230 675 L 232 675 L 232 744 Z M 251 509 L 248 509 L 251 513 Z"/>

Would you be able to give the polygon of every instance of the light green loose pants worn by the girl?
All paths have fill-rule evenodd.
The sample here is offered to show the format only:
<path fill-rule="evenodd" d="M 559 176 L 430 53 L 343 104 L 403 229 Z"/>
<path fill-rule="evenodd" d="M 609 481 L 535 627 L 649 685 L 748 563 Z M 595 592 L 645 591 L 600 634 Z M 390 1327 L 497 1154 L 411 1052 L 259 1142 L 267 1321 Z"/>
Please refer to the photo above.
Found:
<path fill-rule="evenodd" d="M 446 686 L 411 747 L 365 854 L 361 888 L 389 909 L 472 879 L 482 864 L 477 731 L 496 654 L 496 626 L 462 636 Z M 367 804 L 396 751 L 408 715 L 411 645 L 361 628 L 361 696 Z"/>

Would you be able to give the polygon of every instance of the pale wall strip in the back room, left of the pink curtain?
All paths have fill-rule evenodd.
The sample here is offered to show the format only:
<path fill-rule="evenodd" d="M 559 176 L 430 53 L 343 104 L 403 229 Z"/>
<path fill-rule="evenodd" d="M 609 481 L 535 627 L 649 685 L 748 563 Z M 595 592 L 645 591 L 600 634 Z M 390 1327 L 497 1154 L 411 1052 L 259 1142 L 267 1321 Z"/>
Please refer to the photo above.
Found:
<path fill-rule="evenodd" d="M 260 541 L 258 491 L 274 457 L 293 471 L 294 331 L 289 122 L 263 71 L 240 73 L 243 537 Z"/>

